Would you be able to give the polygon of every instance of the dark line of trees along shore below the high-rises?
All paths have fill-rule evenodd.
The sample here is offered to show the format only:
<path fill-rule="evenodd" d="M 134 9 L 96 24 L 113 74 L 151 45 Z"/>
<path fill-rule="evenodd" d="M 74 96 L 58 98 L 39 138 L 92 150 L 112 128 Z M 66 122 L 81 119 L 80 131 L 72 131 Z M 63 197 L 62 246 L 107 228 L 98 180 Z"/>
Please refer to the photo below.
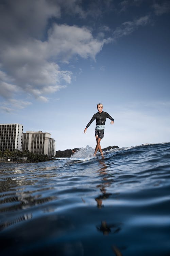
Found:
<path fill-rule="evenodd" d="M 0 152 L 0 158 L 8 161 L 8 159 L 11 159 L 12 162 L 44 162 L 44 161 L 49 161 L 48 155 L 38 155 L 38 154 L 33 154 L 29 150 L 14 150 L 10 151 L 6 149 L 3 153 Z"/>

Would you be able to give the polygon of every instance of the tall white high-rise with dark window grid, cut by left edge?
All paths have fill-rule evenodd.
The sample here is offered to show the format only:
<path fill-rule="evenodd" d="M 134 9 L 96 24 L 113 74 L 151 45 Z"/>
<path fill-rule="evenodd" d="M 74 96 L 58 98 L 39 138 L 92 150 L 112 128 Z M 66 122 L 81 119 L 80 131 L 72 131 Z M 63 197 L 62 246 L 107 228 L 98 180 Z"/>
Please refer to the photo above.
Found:
<path fill-rule="evenodd" d="M 20 124 L 0 124 L 0 151 L 22 150 L 23 126 Z"/>

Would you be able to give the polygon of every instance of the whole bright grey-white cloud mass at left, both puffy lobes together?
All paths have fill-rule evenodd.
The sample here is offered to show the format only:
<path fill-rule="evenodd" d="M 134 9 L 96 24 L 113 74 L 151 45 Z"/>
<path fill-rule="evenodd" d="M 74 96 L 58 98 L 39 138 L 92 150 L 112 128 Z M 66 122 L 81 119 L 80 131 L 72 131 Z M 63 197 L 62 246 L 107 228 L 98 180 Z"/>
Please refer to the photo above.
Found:
<path fill-rule="evenodd" d="M 13 97 L 16 91 L 22 90 L 47 101 L 45 95 L 71 83 L 72 72 L 61 70 L 56 62 L 68 63 L 74 56 L 95 60 L 96 54 L 109 40 L 95 39 L 91 30 L 85 27 L 54 24 L 44 42 L 30 38 L 6 46 L 1 51 L 1 68 L 6 71 L 1 71 L 1 96 Z M 5 80 L 11 77 L 13 84 L 7 84 Z"/>

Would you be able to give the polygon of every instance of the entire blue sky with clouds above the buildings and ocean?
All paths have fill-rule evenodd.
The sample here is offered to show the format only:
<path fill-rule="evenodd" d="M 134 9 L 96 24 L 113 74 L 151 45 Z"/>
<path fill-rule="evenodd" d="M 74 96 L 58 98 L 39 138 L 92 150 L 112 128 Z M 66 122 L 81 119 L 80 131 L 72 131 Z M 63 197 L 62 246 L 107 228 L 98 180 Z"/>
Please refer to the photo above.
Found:
<path fill-rule="evenodd" d="M 0 123 L 56 150 L 170 141 L 170 1 L 0 0 Z"/>

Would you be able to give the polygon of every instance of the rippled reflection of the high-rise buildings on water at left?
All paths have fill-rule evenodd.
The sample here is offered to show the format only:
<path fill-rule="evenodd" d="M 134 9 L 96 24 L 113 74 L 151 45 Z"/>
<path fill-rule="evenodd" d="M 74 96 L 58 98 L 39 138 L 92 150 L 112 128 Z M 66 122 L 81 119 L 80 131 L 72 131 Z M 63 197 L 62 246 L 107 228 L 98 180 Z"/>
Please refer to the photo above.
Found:
<path fill-rule="evenodd" d="M 23 171 L 21 171 L 21 173 L 22 172 Z M 27 176 L 18 176 L 16 178 L 9 177 L 5 180 L 1 180 L 0 198 L 2 199 L 0 200 L 0 213 L 16 213 L 17 211 L 23 211 L 37 205 L 43 205 L 48 203 L 49 201 L 53 201 L 56 199 L 56 196 L 40 198 L 42 197 L 43 191 L 49 190 L 50 187 L 41 189 L 39 188 L 37 190 L 31 191 L 25 189 L 25 187 L 30 187 L 30 189 L 32 189 L 36 181 L 37 180 L 34 179 L 27 179 Z M 51 211 L 49 206 L 44 206 L 41 210 L 44 212 Z M 4 220 L 1 219 L 0 230 L 4 230 L 9 226 L 15 225 L 19 222 L 28 221 L 30 219 L 32 219 L 32 212 L 30 211 L 29 213 L 21 213 L 19 217 L 12 217 L 12 219 L 10 217 L 9 220 L 7 220 L 6 218 Z"/>

